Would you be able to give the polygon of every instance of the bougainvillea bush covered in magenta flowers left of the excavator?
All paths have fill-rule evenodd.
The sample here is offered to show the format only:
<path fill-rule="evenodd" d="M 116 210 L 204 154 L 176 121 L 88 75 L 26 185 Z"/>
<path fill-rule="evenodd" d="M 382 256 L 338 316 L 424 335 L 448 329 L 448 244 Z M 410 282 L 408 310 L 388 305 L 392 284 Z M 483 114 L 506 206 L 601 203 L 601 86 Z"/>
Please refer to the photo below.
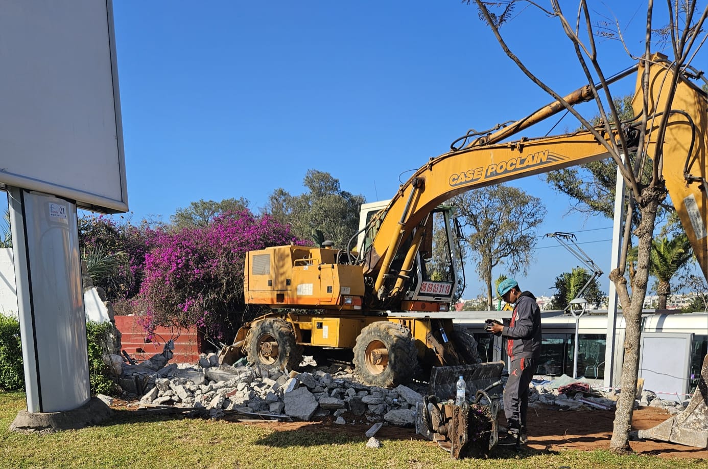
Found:
<path fill-rule="evenodd" d="M 246 252 L 291 242 L 303 244 L 287 225 L 249 210 L 224 213 L 203 228 L 156 233 L 140 289 L 144 327 L 196 324 L 207 339 L 230 339 L 244 321 Z"/>

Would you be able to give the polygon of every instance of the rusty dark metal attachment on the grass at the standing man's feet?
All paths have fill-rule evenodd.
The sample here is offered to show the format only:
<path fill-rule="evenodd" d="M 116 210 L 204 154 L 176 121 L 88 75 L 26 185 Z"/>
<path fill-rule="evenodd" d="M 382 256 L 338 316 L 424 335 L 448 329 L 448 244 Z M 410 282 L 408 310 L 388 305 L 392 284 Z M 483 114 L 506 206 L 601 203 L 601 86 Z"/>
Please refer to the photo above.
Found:
<path fill-rule="evenodd" d="M 484 390 L 462 405 L 426 396 L 416 404 L 416 433 L 438 443 L 451 459 L 487 458 L 498 441 L 499 408 L 498 399 Z"/>

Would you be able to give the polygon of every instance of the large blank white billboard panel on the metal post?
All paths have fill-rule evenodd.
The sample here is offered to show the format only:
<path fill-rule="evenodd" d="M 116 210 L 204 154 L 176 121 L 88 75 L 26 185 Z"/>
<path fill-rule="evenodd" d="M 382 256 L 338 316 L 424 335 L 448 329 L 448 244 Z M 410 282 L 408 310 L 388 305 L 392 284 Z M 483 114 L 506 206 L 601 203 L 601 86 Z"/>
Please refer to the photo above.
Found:
<path fill-rule="evenodd" d="M 127 211 L 113 4 L 3 0 L 0 186 Z"/>

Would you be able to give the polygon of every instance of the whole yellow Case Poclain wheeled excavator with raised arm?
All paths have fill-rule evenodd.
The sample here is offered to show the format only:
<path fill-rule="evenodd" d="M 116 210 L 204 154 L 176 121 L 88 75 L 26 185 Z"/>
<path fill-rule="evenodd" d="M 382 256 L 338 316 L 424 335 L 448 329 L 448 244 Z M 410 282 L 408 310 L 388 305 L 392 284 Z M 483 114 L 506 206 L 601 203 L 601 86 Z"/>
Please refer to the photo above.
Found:
<path fill-rule="evenodd" d="M 647 67 L 647 127 L 640 128 L 640 121 L 632 120 L 615 125 L 611 133 L 601 127 L 598 132 L 606 142 L 622 137 L 635 147 L 644 136 L 649 157 L 661 151 L 671 200 L 706 274 L 707 96 L 666 57 L 656 55 Z M 619 77 L 635 71 L 633 106 L 639 113 L 644 103 L 644 66 L 638 64 Z M 678 85 L 667 106 L 668 84 L 675 74 Z M 574 105 L 591 98 L 590 86 L 584 86 L 564 99 Z M 656 142 L 652 140 L 657 134 L 655 118 L 669 109 L 666 135 L 663 142 Z M 456 260 L 460 233 L 445 200 L 475 188 L 607 158 L 606 142 L 588 130 L 511 138 L 563 110 L 556 101 L 430 158 L 384 208 L 365 205 L 357 249 L 291 245 L 249 252 L 246 303 L 268 305 L 271 312 L 244 324 L 234 344 L 222 350 L 222 363 L 246 355 L 250 363 L 292 370 L 300 363 L 304 347 L 325 353 L 348 350 L 353 351 L 355 373 L 362 382 L 382 387 L 408 380 L 418 363 L 423 369 L 450 366 L 455 380 L 464 374 L 459 366 L 474 370 L 479 361 L 474 338 L 452 324 L 455 312 L 450 302 L 461 282 Z M 447 259 L 444 266 L 430 261 L 435 227 L 447 236 L 445 254 L 437 256 Z M 438 395 L 447 398 L 454 390 Z"/>

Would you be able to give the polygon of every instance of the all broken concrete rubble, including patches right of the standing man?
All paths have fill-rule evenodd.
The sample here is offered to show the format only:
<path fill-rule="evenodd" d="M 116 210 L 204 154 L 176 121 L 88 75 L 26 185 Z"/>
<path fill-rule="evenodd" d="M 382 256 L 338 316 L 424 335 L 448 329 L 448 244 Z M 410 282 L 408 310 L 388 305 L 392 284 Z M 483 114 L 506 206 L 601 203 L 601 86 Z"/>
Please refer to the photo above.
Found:
<path fill-rule="evenodd" d="M 315 368 L 311 357 L 301 364 L 309 369 L 302 373 L 282 373 L 258 366 L 219 366 L 216 354 L 202 354 L 194 365 L 168 365 L 170 358 L 171 351 L 166 348 L 162 354 L 140 363 L 122 363 L 120 356 L 112 356 L 110 361 L 119 375 L 120 386 L 129 394 L 142 396 L 142 406 L 189 407 L 213 418 L 233 412 L 304 421 L 329 417 L 336 424 L 386 422 L 413 426 L 416 402 L 421 402 L 421 393 L 426 392 L 419 383 L 393 389 L 363 385 L 351 368 Z M 616 401 L 615 392 L 598 392 L 584 378 L 576 380 L 565 375 L 532 383 L 529 394 L 530 407 L 543 405 L 559 410 L 612 410 Z M 643 391 L 635 402 L 636 407 L 661 407 L 672 414 L 683 410 L 686 404 L 661 400 L 651 391 Z"/>

